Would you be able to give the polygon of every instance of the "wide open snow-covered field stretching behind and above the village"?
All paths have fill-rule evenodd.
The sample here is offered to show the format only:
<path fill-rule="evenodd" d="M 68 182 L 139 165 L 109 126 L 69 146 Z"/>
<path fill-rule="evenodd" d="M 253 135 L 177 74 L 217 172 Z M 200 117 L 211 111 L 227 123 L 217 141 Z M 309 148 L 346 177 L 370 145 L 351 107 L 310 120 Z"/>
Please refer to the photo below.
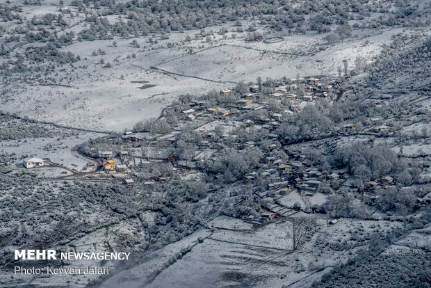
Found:
<path fill-rule="evenodd" d="M 187 35 L 194 39 L 199 31 L 172 33 L 170 39 L 156 44 L 136 38 L 140 48 L 122 38 L 115 39 L 115 47 L 112 40 L 74 42 L 63 50 L 81 56 L 80 61 L 56 67 L 55 83 L 11 84 L 8 88 L 13 97 L 6 97 L 1 107 L 72 127 L 123 131 L 139 120 L 158 117 L 178 95 L 202 95 L 234 86 L 228 81 L 248 83 L 259 76 L 294 78 L 297 73 L 300 77 L 336 75 L 344 58 L 350 65 L 357 55 L 371 61 L 380 45 L 397 32 L 399 29 L 361 31 L 357 38 L 335 45 L 325 44 L 325 34 L 286 35 L 282 42 L 273 44 L 222 39 L 221 35 L 214 35 L 212 43 L 184 41 Z M 168 43 L 175 45 L 168 47 Z M 24 45 L 17 51 L 26 48 Z M 98 49 L 105 54 L 92 56 Z M 101 59 L 111 67 L 101 65 Z M 153 66 L 208 80 L 163 74 L 152 70 Z"/>

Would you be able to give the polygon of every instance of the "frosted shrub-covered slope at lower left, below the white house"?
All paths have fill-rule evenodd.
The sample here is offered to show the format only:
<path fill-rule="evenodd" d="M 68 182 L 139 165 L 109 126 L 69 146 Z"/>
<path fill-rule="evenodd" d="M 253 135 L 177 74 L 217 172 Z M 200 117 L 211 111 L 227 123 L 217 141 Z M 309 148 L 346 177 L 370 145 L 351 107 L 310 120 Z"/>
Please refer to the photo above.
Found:
<path fill-rule="evenodd" d="M 17 178 L 0 174 L 3 195 L 0 223 L 7 228 L 0 231 L 0 255 L 5 256 L 1 257 L 2 264 L 10 259 L 5 254 L 8 253 L 5 248 L 10 245 L 51 246 L 58 241 L 84 236 L 97 229 L 101 222 L 106 225 L 140 217 L 142 211 L 154 212 L 154 223 L 147 223 L 140 217 L 143 225 L 138 227 L 135 239 L 124 239 L 127 235 L 122 235 L 119 238 L 122 243 L 111 242 L 111 245 L 129 243 L 129 248 L 138 245 L 143 250 L 148 246 L 165 246 L 203 225 L 207 212 L 199 200 L 206 197 L 207 187 L 202 180 L 171 179 L 149 191 L 141 182 L 136 182 L 134 187 L 78 181 L 53 184 L 26 174 Z M 208 212 L 212 211 L 210 206 L 206 205 Z M 24 216 L 22 211 L 25 211 Z M 73 221 L 68 216 L 71 213 L 76 215 Z M 97 214 L 97 219 L 109 219 L 109 222 L 88 221 L 88 214 Z M 21 223 L 19 228 L 17 222 Z"/>

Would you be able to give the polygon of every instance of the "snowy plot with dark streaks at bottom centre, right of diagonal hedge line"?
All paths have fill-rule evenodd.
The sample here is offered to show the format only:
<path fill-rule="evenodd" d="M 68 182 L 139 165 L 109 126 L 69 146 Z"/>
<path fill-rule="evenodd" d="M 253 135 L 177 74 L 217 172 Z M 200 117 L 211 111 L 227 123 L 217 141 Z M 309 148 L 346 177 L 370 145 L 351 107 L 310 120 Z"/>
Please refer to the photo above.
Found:
<path fill-rule="evenodd" d="M 274 229 L 277 229 L 273 225 Z M 148 288 L 284 287 L 334 263 L 336 253 L 291 253 L 204 239 Z M 304 287 L 304 286 L 302 286 Z"/>

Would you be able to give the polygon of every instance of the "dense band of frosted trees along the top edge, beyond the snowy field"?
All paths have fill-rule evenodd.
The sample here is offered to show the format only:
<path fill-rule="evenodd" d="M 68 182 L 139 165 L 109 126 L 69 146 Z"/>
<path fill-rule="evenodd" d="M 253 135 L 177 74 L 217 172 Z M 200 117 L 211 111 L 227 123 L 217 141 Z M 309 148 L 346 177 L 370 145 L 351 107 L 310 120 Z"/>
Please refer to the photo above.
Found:
<path fill-rule="evenodd" d="M 92 4 L 92 5 L 91 5 Z M 92 25 L 83 31 L 83 38 L 106 38 L 113 35 L 147 35 L 149 33 L 160 33 L 170 31 L 184 31 L 190 29 L 202 29 L 208 26 L 259 17 L 261 24 L 270 26 L 276 30 L 284 28 L 294 29 L 296 32 L 318 31 L 326 33 L 330 26 L 338 24 L 331 33 L 331 40 L 342 40 L 350 37 L 350 28 L 346 24 L 350 19 L 356 19 L 361 26 L 386 26 L 406 22 L 402 17 L 403 9 L 407 3 L 400 3 L 398 9 L 377 10 L 378 5 L 364 1 L 349 1 L 339 3 L 331 0 L 325 2 L 301 1 L 301 3 L 279 2 L 279 1 L 177 1 L 173 5 L 165 1 L 127 1 L 116 3 L 115 1 L 72 1 L 72 5 L 78 6 L 80 11 L 96 8 L 97 15 L 87 16 L 87 21 Z M 371 13 L 380 12 L 382 18 L 373 18 L 367 21 Z M 398 14 L 397 14 L 398 13 Z M 114 24 L 109 24 L 99 16 L 120 14 L 120 19 Z M 412 13 L 409 13 L 412 14 Z M 307 16 L 307 17 L 306 17 Z M 405 15 L 404 15 L 405 16 Z M 411 17 L 416 17 L 412 15 Z M 357 24 L 357 26 L 360 26 Z M 243 31 L 240 26 L 240 31 Z M 252 26 L 248 31 L 254 31 Z"/>

